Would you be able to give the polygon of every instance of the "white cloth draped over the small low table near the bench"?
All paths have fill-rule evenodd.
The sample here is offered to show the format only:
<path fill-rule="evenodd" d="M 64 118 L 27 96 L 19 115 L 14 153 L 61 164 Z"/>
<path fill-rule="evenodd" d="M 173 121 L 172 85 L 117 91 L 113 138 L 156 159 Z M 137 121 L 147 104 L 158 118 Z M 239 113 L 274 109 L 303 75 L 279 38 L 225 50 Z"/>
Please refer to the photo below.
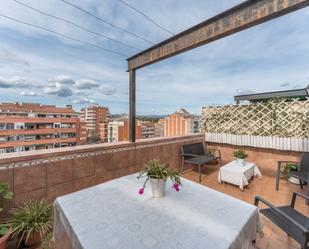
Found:
<path fill-rule="evenodd" d="M 253 176 L 262 178 L 260 170 L 254 163 L 245 162 L 243 166 L 239 166 L 235 160 L 219 169 L 218 181 L 232 183 L 243 190 Z"/>

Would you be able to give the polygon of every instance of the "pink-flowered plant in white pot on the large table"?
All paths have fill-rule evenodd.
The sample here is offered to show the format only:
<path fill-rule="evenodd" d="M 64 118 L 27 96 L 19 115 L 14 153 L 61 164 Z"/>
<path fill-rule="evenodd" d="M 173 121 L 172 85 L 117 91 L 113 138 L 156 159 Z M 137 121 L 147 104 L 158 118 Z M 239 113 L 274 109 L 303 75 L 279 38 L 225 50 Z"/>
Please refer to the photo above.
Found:
<path fill-rule="evenodd" d="M 165 195 L 166 180 L 170 179 L 173 182 L 173 188 L 178 192 L 181 186 L 181 180 L 178 172 L 175 172 L 167 167 L 166 164 L 160 164 L 158 160 L 149 160 L 146 168 L 142 170 L 138 179 L 145 177 L 146 180 L 143 187 L 138 191 L 139 194 L 144 194 L 146 183 L 150 181 L 153 197 L 162 197 Z"/>

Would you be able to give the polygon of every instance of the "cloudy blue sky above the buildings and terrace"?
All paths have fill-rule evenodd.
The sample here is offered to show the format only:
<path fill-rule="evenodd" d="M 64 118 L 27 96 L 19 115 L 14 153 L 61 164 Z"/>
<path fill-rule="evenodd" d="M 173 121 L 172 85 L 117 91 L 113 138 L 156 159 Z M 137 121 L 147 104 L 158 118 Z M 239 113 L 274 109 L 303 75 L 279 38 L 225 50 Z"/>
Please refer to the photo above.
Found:
<path fill-rule="evenodd" d="M 151 44 L 106 25 L 62 0 L 17 1 L 97 34 L 45 16 L 14 0 L 1 0 L 0 102 L 72 104 L 77 111 L 90 104 L 100 104 L 109 107 L 113 114 L 127 113 L 126 58 L 137 53 L 136 48 L 143 50 Z M 152 43 L 171 36 L 119 0 L 67 1 Z M 173 33 L 242 2 L 125 1 Z M 309 8 L 305 8 L 138 70 L 137 114 L 168 114 L 183 107 L 200 114 L 203 106 L 232 104 L 234 95 L 306 87 L 309 85 L 308 24 Z"/>

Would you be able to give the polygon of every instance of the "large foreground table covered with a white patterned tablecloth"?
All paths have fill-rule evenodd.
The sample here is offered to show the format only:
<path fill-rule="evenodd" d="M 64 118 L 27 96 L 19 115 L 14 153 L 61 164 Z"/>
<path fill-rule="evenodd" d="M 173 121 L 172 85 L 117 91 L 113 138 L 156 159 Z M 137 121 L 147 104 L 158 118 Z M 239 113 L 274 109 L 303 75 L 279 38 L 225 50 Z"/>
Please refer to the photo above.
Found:
<path fill-rule="evenodd" d="M 56 199 L 55 244 L 61 249 L 248 249 L 261 231 L 256 206 L 182 179 L 153 198 L 137 174 Z M 148 186 L 149 185 L 149 186 Z"/>

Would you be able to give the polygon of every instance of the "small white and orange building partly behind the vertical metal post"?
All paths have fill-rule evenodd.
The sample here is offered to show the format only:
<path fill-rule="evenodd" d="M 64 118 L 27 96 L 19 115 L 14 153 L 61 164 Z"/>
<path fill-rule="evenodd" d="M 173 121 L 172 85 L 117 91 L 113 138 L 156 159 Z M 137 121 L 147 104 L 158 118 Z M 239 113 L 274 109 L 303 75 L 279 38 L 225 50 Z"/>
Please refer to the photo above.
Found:
<path fill-rule="evenodd" d="M 136 125 L 136 138 L 142 138 L 142 127 Z M 129 122 L 125 120 L 114 120 L 108 123 L 108 142 L 121 142 L 129 140 Z"/>

